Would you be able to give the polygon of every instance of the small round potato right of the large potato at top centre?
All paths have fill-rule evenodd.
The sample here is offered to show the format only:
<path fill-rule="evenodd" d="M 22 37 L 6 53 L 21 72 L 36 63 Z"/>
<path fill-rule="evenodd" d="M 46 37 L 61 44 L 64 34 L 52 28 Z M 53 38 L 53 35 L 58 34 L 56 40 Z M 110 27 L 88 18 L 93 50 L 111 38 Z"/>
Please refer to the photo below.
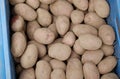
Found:
<path fill-rule="evenodd" d="M 70 16 L 73 24 L 82 23 L 84 20 L 84 12 L 80 10 L 73 10 Z"/>

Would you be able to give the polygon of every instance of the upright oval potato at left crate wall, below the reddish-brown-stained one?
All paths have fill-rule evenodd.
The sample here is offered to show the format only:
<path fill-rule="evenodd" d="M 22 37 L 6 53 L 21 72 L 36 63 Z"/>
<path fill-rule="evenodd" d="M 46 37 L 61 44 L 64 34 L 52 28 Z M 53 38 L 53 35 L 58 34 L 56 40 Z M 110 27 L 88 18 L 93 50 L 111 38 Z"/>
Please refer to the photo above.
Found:
<path fill-rule="evenodd" d="M 11 52 L 14 57 L 20 57 L 26 48 L 26 38 L 21 32 L 12 35 Z"/>

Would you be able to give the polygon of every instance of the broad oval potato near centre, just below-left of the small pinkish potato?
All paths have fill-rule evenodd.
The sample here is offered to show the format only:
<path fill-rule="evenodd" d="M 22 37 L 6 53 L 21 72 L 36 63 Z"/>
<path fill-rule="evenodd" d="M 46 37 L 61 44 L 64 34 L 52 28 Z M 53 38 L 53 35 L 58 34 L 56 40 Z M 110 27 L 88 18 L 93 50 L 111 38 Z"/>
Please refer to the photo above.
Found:
<path fill-rule="evenodd" d="M 71 48 L 62 43 L 55 43 L 48 49 L 48 55 L 52 58 L 64 61 L 70 57 Z"/>

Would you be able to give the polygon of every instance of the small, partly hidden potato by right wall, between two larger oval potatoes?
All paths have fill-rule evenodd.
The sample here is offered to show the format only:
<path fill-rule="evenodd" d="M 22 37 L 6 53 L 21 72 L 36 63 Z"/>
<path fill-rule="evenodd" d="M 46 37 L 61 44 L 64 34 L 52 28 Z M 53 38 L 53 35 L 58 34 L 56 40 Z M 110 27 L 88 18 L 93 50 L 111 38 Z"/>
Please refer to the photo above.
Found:
<path fill-rule="evenodd" d="M 112 55 L 114 53 L 114 47 L 110 46 L 110 45 L 105 45 L 104 44 L 101 47 L 101 49 L 103 50 L 105 56 L 110 56 L 110 55 Z"/>

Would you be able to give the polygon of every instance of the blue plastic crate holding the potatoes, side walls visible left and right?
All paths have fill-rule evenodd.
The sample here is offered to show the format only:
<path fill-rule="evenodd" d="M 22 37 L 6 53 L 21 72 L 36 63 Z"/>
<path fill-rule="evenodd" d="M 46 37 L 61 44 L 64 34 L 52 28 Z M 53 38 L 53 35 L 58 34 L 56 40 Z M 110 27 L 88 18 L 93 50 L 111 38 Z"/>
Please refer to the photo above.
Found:
<path fill-rule="evenodd" d="M 107 22 L 116 32 L 114 46 L 118 64 L 115 72 L 120 77 L 120 0 L 107 1 L 111 8 Z M 0 0 L 0 36 L 0 79 L 15 79 L 14 65 L 10 53 L 8 0 Z"/>

